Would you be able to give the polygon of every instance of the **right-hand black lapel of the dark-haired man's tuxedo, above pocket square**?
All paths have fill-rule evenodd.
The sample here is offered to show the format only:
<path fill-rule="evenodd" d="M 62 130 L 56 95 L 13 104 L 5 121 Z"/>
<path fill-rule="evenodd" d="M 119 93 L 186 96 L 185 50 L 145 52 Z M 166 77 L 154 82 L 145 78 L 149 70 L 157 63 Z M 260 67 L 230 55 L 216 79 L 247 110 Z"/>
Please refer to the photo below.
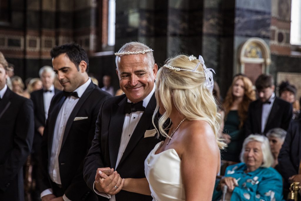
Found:
<path fill-rule="evenodd" d="M 65 132 L 64 132 L 64 136 L 63 136 L 63 141 L 62 141 L 62 146 L 64 146 L 64 143 L 67 139 L 67 136 L 69 134 L 70 128 L 73 124 L 73 120 L 76 117 L 78 111 L 80 110 L 80 108 L 82 108 L 83 103 L 86 101 L 86 99 L 88 98 L 88 96 L 91 94 L 91 92 L 93 91 L 93 89 L 95 88 L 95 85 L 91 82 L 89 84 L 89 86 L 87 87 L 87 89 L 85 90 L 85 92 L 82 94 L 82 96 L 79 98 L 78 102 L 76 103 L 75 107 L 73 108 L 70 117 L 67 121 L 66 127 L 65 127 Z"/>

